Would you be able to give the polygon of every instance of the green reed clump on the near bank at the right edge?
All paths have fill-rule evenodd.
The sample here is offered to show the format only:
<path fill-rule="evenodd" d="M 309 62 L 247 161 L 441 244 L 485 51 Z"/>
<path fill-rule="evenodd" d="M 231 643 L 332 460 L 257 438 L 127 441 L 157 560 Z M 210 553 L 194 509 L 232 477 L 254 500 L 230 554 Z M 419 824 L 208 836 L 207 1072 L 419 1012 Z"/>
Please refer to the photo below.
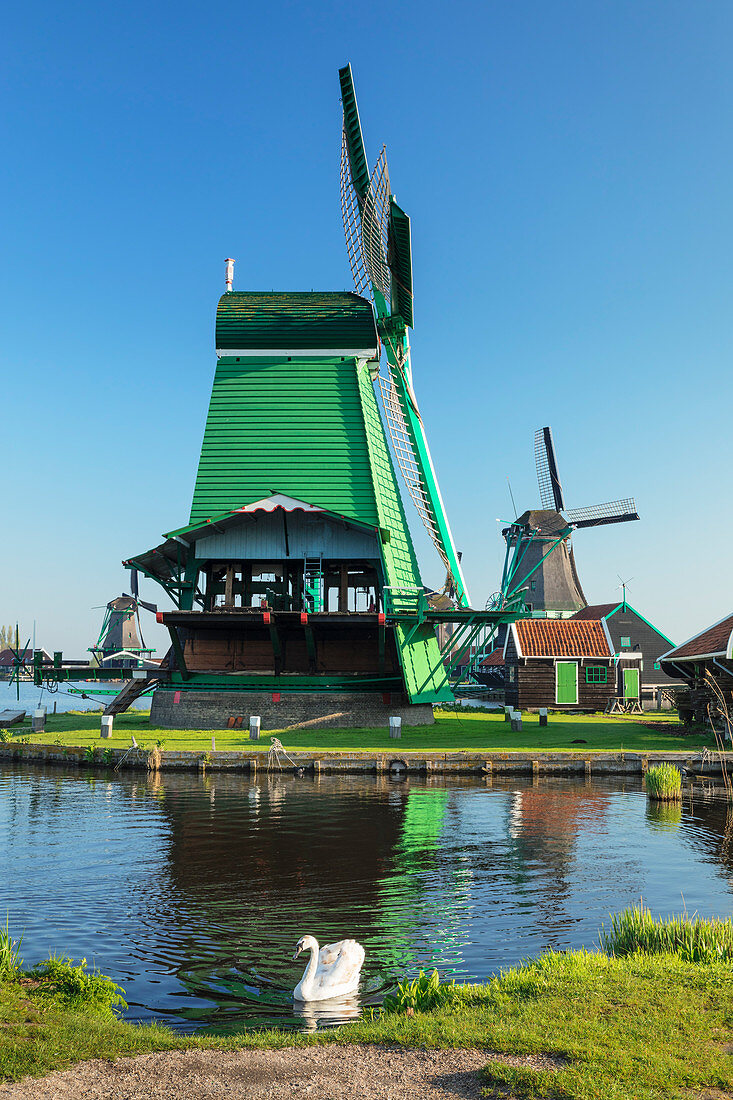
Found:
<path fill-rule="evenodd" d="M 733 961 L 733 921 L 688 916 L 655 920 L 644 904 L 633 905 L 611 916 L 611 928 L 601 930 L 601 947 L 606 955 L 624 957 L 679 955 L 686 963 Z"/>

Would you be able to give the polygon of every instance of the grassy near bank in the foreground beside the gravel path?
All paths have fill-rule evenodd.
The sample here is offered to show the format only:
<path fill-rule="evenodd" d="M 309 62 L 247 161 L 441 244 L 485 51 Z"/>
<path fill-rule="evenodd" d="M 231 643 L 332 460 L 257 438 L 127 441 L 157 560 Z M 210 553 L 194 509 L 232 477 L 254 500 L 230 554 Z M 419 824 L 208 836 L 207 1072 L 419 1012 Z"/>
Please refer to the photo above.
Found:
<path fill-rule="evenodd" d="M 359 1042 L 481 1047 L 545 1054 L 555 1062 L 551 1069 L 491 1062 L 484 1071 L 486 1096 L 681 1100 L 730 1094 L 732 1024 L 731 965 L 687 963 L 672 955 L 546 955 L 484 986 L 463 987 L 449 1007 L 360 1020 L 317 1035 L 185 1036 L 119 1022 L 109 1011 L 64 1004 L 6 981 L 0 983 L 0 1079 L 145 1050 Z"/>

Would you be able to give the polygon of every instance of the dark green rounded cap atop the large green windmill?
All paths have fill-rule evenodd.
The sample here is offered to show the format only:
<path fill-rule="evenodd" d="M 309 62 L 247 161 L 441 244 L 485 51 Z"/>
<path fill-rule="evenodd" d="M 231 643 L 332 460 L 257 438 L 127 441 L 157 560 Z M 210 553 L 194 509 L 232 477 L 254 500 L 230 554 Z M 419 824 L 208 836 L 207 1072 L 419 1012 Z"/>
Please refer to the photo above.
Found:
<path fill-rule="evenodd" d="M 219 299 L 220 351 L 370 351 L 379 354 L 371 302 L 347 292 L 264 294 L 230 290 Z"/>

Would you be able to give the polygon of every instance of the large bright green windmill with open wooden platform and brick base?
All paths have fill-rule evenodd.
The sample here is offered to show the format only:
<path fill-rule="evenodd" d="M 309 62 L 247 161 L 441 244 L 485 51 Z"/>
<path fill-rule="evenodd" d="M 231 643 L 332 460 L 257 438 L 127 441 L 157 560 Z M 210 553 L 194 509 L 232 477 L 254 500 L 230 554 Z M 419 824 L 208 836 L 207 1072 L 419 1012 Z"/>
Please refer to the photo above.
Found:
<path fill-rule="evenodd" d="M 227 260 L 188 522 L 124 561 L 174 605 L 157 613 L 171 650 L 140 678 L 156 683 L 158 725 L 431 723 L 453 698 L 459 642 L 472 650 L 522 610 L 469 604 L 413 386 L 409 219 L 384 151 L 368 172 L 348 66 L 340 80 L 357 293 L 234 290 Z M 441 593 L 423 583 L 397 468 L 445 565 Z"/>

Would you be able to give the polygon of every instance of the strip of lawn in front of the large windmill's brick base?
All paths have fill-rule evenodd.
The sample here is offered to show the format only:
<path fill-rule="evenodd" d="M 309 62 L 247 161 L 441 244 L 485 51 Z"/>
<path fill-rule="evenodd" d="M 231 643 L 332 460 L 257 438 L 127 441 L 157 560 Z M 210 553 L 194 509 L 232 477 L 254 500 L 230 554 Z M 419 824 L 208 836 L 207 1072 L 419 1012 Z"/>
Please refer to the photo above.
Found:
<path fill-rule="evenodd" d="M 648 723 L 645 725 L 644 723 Z M 470 712 L 437 712 L 435 726 L 409 728 L 404 726 L 402 740 L 390 739 L 384 729 L 292 729 L 275 733 L 287 749 L 318 751 L 378 751 L 394 752 L 483 752 L 521 750 L 566 750 L 600 752 L 650 750 L 690 752 L 703 747 L 714 748 L 714 740 L 704 733 L 681 736 L 677 715 L 654 712 L 642 722 L 631 717 L 592 715 L 549 715 L 549 724 L 540 728 L 536 714 L 525 714 L 522 733 L 513 734 L 503 714 Z M 114 736 L 100 741 L 99 714 L 52 714 L 43 734 L 12 727 L 13 739 L 29 737 L 31 741 L 62 745 L 95 745 L 102 748 L 121 748 L 130 745 L 134 734 L 138 744 L 152 748 L 157 741 L 163 749 L 197 749 L 210 751 L 211 737 L 217 749 L 266 751 L 270 733 L 263 733 L 259 743 L 250 741 L 247 729 L 161 729 L 151 726 L 145 712 L 129 711 L 114 719 Z"/>

